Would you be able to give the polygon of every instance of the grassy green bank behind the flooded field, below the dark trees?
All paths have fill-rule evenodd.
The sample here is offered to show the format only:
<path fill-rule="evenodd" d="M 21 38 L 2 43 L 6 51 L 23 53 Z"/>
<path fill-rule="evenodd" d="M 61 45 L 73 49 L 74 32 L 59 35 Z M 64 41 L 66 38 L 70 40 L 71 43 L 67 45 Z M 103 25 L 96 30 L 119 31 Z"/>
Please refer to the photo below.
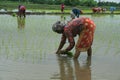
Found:
<path fill-rule="evenodd" d="M 2 1 L 0 2 L 0 9 L 7 9 L 7 11 L 11 11 L 18 8 L 18 5 L 25 5 L 27 10 L 31 10 L 32 12 L 42 12 L 42 13 L 60 13 L 60 5 L 48 5 L 48 4 L 33 4 L 33 3 L 23 3 L 23 2 L 8 2 Z M 91 7 L 85 6 L 77 6 L 82 9 L 84 13 L 92 13 Z M 106 7 L 109 8 L 109 7 Z M 70 13 L 72 6 L 65 6 L 65 13 Z M 107 9 L 106 13 L 110 13 L 109 9 Z M 120 10 L 115 11 L 115 13 L 120 13 Z"/>

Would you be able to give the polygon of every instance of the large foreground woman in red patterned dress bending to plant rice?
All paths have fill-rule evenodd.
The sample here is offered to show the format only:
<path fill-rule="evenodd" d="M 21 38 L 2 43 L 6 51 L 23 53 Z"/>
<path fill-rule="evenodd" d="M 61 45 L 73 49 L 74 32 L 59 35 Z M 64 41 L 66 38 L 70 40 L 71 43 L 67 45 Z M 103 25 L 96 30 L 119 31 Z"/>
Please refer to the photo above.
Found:
<path fill-rule="evenodd" d="M 92 42 L 94 38 L 95 24 L 89 18 L 76 18 L 67 23 L 67 25 L 62 24 L 57 21 L 52 26 L 52 30 L 56 33 L 62 34 L 60 45 L 57 49 L 56 54 L 64 54 L 73 49 L 75 46 L 74 37 L 79 36 L 76 47 L 74 59 L 77 59 L 80 52 L 87 51 L 88 56 L 92 54 Z M 69 46 L 61 50 L 68 39 Z"/>

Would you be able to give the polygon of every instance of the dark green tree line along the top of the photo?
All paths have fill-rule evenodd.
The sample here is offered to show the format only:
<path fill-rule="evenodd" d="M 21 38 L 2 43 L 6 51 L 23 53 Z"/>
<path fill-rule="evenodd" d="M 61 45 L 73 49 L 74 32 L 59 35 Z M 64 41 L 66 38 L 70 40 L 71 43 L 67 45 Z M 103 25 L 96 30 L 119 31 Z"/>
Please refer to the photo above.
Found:
<path fill-rule="evenodd" d="M 0 0 L 0 2 L 3 0 Z M 25 2 L 25 3 L 34 3 L 34 4 L 50 4 L 50 5 L 59 5 L 61 3 L 64 3 L 65 5 L 69 6 L 120 6 L 120 3 L 115 3 L 115 2 L 104 2 L 99 0 L 97 2 L 96 0 L 4 0 L 6 2 L 8 1 L 13 1 L 13 2 Z"/>

